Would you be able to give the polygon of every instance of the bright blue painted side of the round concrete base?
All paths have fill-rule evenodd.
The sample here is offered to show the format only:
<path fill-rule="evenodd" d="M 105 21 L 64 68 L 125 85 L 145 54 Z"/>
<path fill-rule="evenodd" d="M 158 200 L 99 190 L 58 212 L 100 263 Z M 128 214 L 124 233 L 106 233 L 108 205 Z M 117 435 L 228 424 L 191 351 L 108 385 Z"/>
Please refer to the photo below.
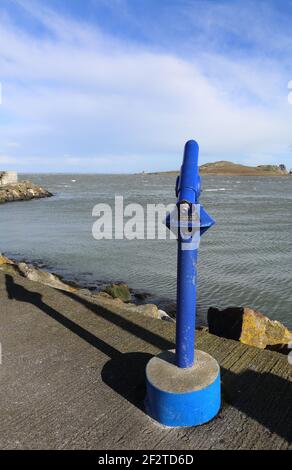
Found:
<path fill-rule="evenodd" d="M 165 426 L 198 426 L 217 415 L 221 405 L 220 372 L 211 384 L 201 390 L 170 393 L 147 384 L 148 415 Z"/>

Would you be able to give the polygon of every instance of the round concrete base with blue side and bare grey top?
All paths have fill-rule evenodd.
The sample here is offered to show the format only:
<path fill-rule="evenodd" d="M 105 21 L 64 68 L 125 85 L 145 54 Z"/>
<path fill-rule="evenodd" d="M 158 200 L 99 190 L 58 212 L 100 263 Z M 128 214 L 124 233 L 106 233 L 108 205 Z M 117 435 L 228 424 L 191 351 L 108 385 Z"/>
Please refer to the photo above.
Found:
<path fill-rule="evenodd" d="M 193 367 L 175 363 L 175 351 L 153 357 L 146 367 L 146 410 L 165 426 L 197 426 L 216 416 L 221 406 L 220 368 L 203 351 Z"/>

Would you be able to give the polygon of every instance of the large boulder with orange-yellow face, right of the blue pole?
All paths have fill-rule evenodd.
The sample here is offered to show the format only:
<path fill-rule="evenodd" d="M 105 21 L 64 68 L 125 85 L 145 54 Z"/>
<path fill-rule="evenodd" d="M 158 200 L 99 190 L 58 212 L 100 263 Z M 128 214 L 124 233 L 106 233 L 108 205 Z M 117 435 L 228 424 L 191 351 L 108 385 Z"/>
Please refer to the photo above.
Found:
<path fill-rule="evenodd" d="M 292 342 L 292 332 L 282 323 L 248 307 L 231 307 L 222 311 L 210 308 L 208 326 L 212 334 L 261 349 L 277 346 L 281 350 L 282 346 Z"/>

